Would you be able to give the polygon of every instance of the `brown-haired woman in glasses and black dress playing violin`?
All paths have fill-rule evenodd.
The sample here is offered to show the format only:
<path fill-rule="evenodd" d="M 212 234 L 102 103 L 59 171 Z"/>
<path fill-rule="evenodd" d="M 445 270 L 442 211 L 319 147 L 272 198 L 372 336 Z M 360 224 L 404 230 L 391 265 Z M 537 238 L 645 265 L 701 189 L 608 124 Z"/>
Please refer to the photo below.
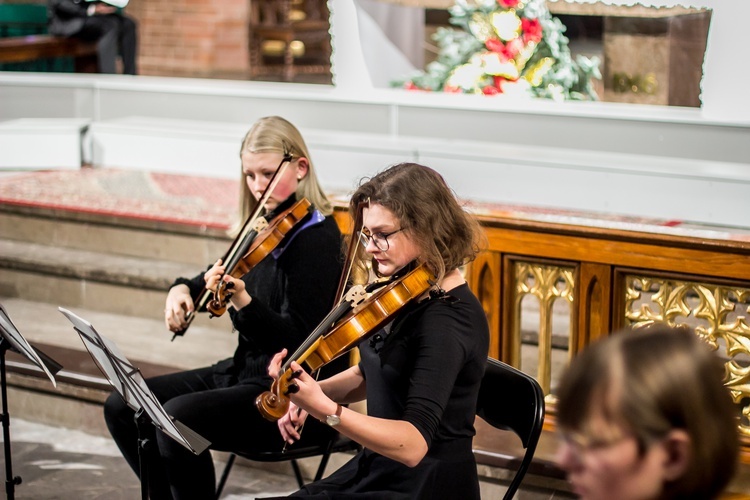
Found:
<path fill-rule="evenodd" d="M 278 420 L 284 440 L 295 443 L 303 422 L 307 429 L 319 421 L 363 446 L 338 471 L 291 496 L 478 499 L 471 444 L 489 328 L 459 268 L 484 245 L 483 231 L 436 171 L 414 163 L 361 184 L 350 213 L 361 225 L 355 223 L 352 281 L 375 274 L 398 282 L 420 270 L 427 278 L 413 300 L 359 343 L 357 365 L 317 381 L 297 361 L 288 363 L 291 402 Z M 269 365 L 274 378 L 285 373 L 287 354 Z M 346 407 L 363 400 L 367 414 Z"/>

